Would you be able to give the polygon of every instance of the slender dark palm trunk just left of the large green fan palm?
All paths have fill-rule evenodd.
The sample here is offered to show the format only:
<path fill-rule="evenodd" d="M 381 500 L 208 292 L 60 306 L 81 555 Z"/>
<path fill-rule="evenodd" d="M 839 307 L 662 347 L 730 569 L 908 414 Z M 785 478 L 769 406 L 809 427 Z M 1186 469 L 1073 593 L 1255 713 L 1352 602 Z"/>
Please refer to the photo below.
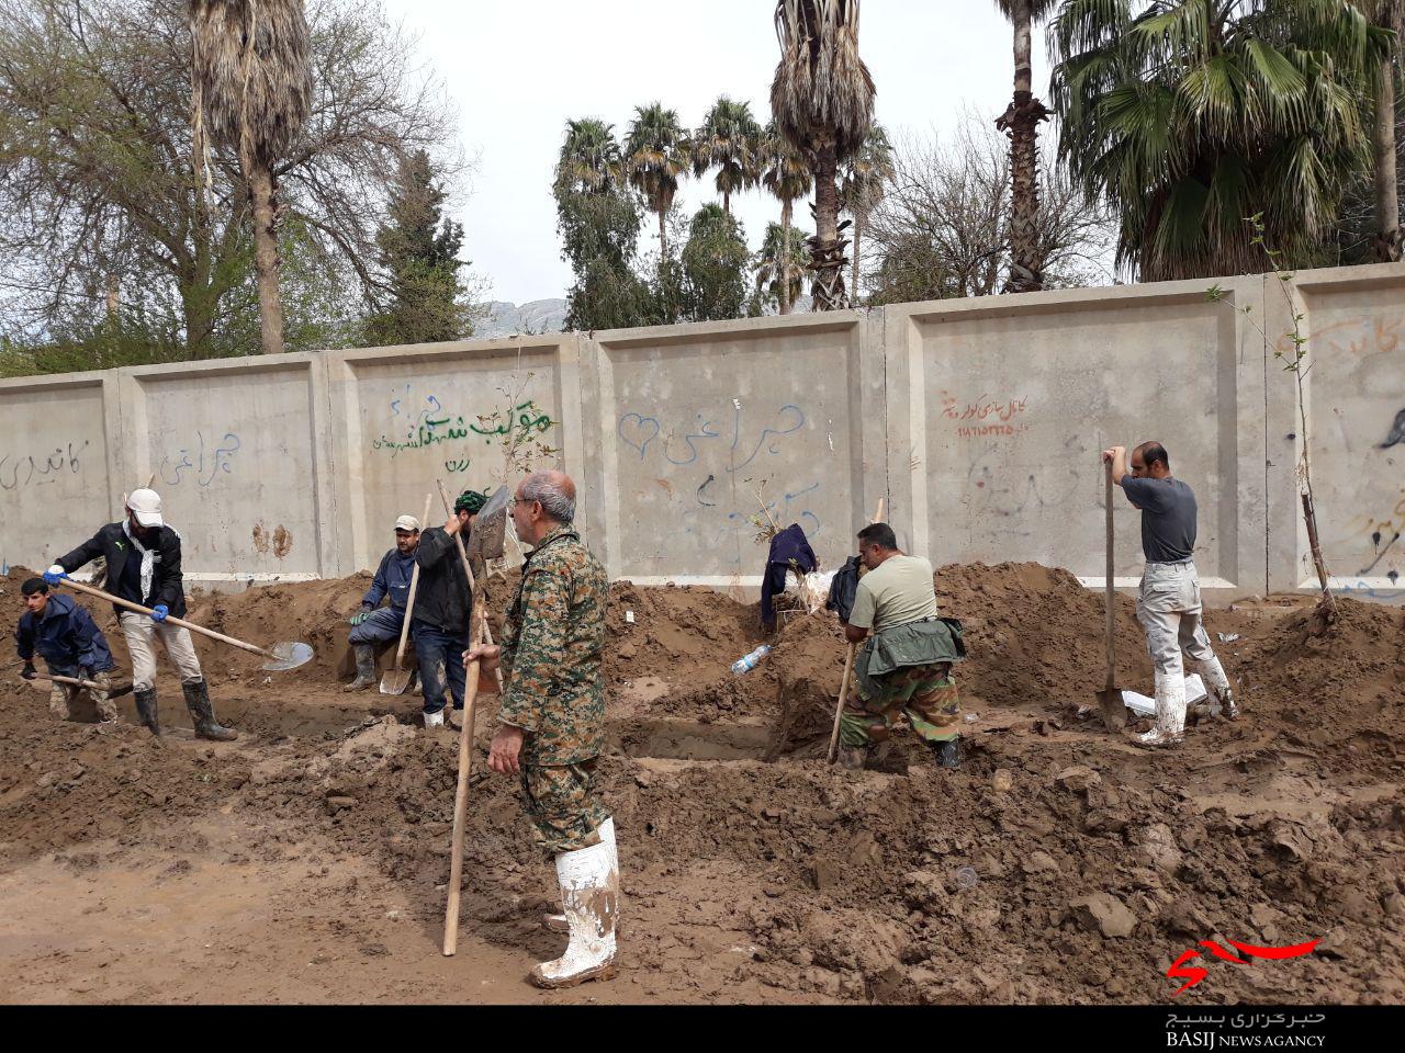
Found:
<path fill-rule="evenodd" d="M 1034 22 L 1054 7 L 1055 0 L 995 0 L 1014 25 L 1014 98 L 995 126 L 1010 136 L 1010 277 L 1006 292 L 1034 292 L 1044 288 L 1044 260 L 1040 246 L 1040 121 L 1050 111 L 1034 97 L 1030 65 L 1030 37 Z"/>

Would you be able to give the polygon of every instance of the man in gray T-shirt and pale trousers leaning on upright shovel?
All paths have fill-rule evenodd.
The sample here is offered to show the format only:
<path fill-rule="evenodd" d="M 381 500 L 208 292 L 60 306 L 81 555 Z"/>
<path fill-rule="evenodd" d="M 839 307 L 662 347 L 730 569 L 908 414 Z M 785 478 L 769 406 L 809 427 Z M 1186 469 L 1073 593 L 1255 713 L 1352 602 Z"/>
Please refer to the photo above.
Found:
<path fill-rule="evenodd" d="M 1186 727 L 1184 650 L 1196 658 L 1205 689 L 1231 720 L 1238 716 L 1224 665 L 1210 647 L 1201 625 L 1204 605 L 1191 555 L 1196 548 L 1196 494 L 1170 475 L 1170 455 L 1159 442 L 1132 449 L 1103 451 L 1113 466 L 1113 480 L 1142 512 L 1142 553 L 1146 570 L 1137 597 L 1137 621 L 1146 630 L 1146 650 L 1156 665 L 1156 726 L 1138 740 L 1144 746 L 1173 746 Z"/>

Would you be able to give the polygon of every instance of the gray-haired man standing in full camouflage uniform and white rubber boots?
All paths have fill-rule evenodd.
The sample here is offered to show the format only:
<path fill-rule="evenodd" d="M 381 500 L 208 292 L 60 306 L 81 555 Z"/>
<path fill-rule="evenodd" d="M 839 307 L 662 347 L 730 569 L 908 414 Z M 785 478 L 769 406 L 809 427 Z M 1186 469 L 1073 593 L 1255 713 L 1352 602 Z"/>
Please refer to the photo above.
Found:
<path fill-rule="evenodd" d="M 615 969 L 620 863 L 614 820 L 596 789 L 608 583 L 572 526 L 575 514 L 576 487 L 562 472 L 535 472 L 517 487 L 513 526 L 532 550 L 502 647 L 475 644 L 465 653 L 465 661 L 481 658 L 486 668 L 506 663 L 488 767 L 521 776 L 537 841 L 556 859 L 570 943 L 561 958 L 532 969 L 540 987 L 603 980 Z"/>

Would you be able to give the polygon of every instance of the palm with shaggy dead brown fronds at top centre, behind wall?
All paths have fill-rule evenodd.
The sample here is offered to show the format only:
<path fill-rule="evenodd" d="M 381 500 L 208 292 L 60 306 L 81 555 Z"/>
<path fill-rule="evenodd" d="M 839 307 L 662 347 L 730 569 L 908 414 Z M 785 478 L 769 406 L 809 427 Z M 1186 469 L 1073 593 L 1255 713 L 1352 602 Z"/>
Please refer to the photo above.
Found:
<path fill-rule="evenodd" d="M 815 309 L 843 309 L 849 243 L 839 240 L 835 177 L 863 146 L 874 112 L 874 81 L 858 58 L 858 0 L 777 0 L 776 35 L 781 60 L 771 81 L 771 115 L 815 176 Z"/>

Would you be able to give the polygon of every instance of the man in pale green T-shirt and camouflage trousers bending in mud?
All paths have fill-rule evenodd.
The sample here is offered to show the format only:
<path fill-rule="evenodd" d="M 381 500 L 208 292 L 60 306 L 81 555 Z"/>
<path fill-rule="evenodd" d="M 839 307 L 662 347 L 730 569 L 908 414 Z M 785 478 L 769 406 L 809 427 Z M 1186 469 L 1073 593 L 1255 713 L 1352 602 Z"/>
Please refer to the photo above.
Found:
<path fill-rule="evenodd" d="M 846 768 L 861 768 L 868 747 L 887 741 L 901 710 L 937 765 L 957 768 L 961 705 L 951 665 L 965 657 L 961 623 L 937 616 L 932 564 L 901 552 L 888 524 L 858 532 L 858 557 L 868 573 L 858 578 L 843 628 L 850 643 L 867 642 L 854 661 L 840 719 L 840 760 Z"/>

